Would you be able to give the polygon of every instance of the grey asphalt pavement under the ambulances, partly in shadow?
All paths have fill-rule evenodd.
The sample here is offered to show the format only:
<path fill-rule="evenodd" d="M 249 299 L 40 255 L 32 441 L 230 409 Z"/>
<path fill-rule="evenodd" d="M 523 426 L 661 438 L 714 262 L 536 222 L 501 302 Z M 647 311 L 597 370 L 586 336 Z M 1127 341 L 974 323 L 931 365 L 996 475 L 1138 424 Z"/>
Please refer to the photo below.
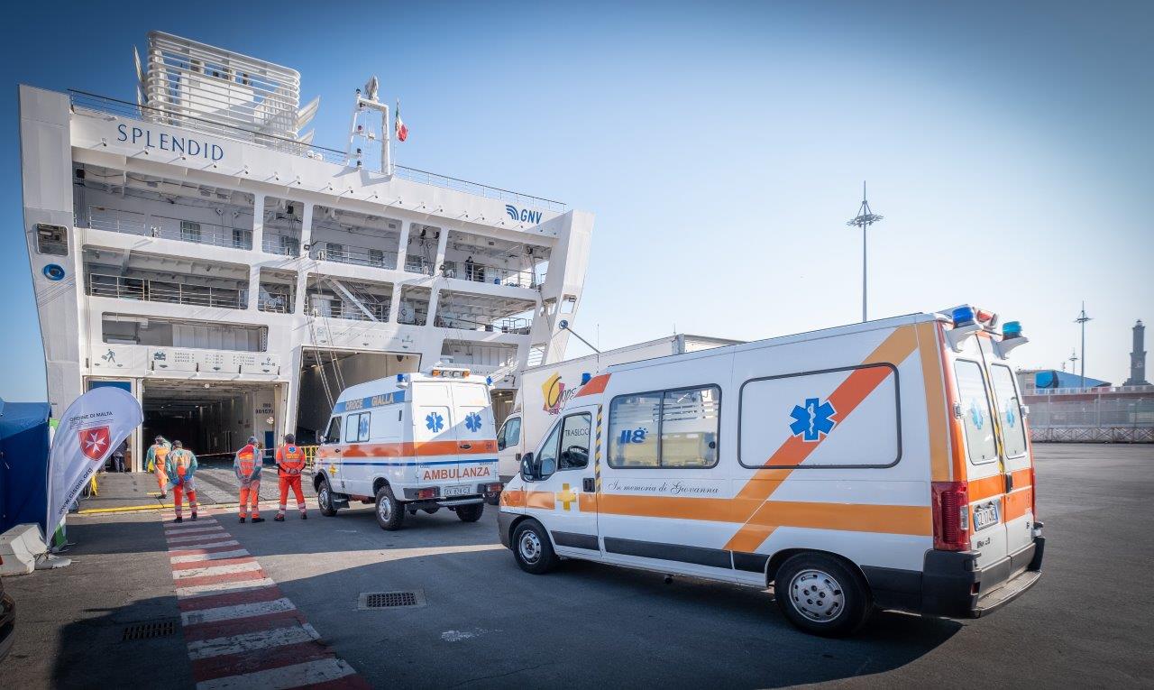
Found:
<path fill-rule="evenodd" d="M 527 575 L 500 546 L 493 507 L 475 524 L 419 513 L 399 532 L 380 530 L 370 507 L 217 520 L 375 687 L 1151 687 L 1154 447 L 1035 452 L 1037 586 L 987 618 L 883 613 L 844 640 L 799 632 L 757 590 L 583 562 Z M 180 620 L 159 520 L 74 518 L 72 567 L 5 579 L 20 615 L 0 684 L 192 685 L 179 627 L 122 642 L 132 623 Z M 361 594 L 398 591 L 418 592 L 418 605 L 360 607 Z"/>

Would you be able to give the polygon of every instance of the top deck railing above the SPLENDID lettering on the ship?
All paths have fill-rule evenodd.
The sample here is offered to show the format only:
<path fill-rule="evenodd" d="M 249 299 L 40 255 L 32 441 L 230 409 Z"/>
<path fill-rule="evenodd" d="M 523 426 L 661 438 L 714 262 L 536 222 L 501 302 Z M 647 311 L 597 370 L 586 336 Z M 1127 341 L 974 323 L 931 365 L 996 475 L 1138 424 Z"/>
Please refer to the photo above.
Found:
<path fill-rule="evenodd" d="M 194 129 L 234 141 L 253 143 L 276 151 L 291 153 L 293 156 L 301 156 L 314 160 L 324 160 L 325 163 L 334 163 L 350 167 L 349 155 L 345 151 L 338 151 L 337 149 L 306 144 L 294 138 L 252 132 L 235 125 L 225 125 L 224 122 L 217 122 L 183 113 L 178 114 L 163 107 L 137 105 L 128 100 L 119 100 L 117 98 L 98 96 L 87 91 L 69 89 L 68 93 L 72 97 L 73 110 L 88 110 L 125 118 L 133 118 L 135 120 L 164 123 L 172 127 Z M 511 192 L 500 187 L 490 187 L 479 182 L 470 182 L 469 180 L 450 178 L 448 175 L 418 170 L 415 167 L 395 165 L 394 177 L 409 180 L 411 182 L 430 185 L 442 189 L 452 189 L 455 192 L 463 192 L 465 194 L 505 202 L 517 207 L 515 209 L 507 209 L 507 212 L 510 213 L 510 216 L 514 212 L 519 213 L 519 211 L 525 208 L 540 209 L 557 213 L 564 213 L 569 210 L 569 205 L 560 201 L 522 194 L 519 192 Z"/>

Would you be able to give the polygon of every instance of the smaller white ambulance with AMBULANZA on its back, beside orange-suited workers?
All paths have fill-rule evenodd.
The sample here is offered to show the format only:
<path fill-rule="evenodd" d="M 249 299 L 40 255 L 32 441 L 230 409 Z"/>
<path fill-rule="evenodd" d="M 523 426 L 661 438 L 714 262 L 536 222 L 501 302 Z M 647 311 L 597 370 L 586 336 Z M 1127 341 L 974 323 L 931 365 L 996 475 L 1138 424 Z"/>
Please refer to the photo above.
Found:
<path fill-rule="evenodd" d="M 480 519 L 501 493 L 496 433 L 485 377 L 439 367 L 347 388 L 316 450 L 313 485 L 321 513 L 350 501 L 376 504 L 376 520 L 398 530 L 405 512 L 456 511 Z"/>

